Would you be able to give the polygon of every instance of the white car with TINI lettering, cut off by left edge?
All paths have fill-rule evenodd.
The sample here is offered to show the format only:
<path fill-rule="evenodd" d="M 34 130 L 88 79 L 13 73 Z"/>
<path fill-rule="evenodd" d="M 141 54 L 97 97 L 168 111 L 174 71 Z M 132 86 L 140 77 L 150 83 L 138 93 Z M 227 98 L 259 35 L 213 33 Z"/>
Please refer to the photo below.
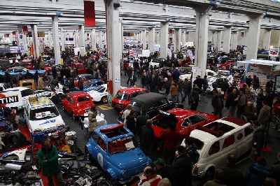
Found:
<path fill-rule="evenodd" d="M 0 92 L 0 106 L 20 110 L 27 106 L 28 96 L 34 92 L 27 87 L 8 88 Z"/>

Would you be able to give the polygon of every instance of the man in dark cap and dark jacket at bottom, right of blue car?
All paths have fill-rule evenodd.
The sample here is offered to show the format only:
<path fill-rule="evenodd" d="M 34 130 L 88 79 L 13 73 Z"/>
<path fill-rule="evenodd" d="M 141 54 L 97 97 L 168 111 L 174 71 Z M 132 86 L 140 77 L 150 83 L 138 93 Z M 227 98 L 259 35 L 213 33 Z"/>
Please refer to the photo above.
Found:
<path fill-rule="evenodd" d="M 162 176 L 162 178 L 168 178 L 172 185 L 181 185 L 178 173 L 171 165 L 165 164 L 165 160 L 159 158 L 153 164 L 158 170 L 158 175 Z"/>

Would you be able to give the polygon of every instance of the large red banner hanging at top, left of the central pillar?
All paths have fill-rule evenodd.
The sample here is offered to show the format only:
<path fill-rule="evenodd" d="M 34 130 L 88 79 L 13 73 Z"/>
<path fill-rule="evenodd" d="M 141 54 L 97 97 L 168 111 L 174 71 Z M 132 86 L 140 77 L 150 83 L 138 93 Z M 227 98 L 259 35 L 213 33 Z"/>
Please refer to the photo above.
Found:
<path fill-rule="evenodd" d="M 94 1 L 83 1 L 83 15 L 85 27 L 95 27 Z"/>

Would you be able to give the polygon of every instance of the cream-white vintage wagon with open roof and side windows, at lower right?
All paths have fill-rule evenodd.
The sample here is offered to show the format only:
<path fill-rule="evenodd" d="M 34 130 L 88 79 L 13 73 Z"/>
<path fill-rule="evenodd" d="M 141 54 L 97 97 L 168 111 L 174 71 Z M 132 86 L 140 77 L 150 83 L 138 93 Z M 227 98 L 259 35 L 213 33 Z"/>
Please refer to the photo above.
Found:
<path fill-rule="evenodd" d="M 249 122 L 235 117 L 223 117 L 203 127 L 197 126 L 190 133 L 200 153 L 193 176 L 210 180 L 215 170 L 226 164 L 228 154 L 238 158 L 251 150 L 252 132 Z"/>

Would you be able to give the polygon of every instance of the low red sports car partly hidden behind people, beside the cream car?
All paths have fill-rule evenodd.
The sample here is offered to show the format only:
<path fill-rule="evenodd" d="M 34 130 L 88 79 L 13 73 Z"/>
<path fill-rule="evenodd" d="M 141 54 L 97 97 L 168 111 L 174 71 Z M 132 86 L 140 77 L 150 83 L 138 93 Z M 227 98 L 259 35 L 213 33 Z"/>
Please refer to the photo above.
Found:
<path fill-rule="evenodd" d="M 155 132 L 155 138 L 159 138 L 162 131 L 169 128 L 171 122 L 176 122 L 176 130 L 180 132 L 187 132 L 188 124 L 192 124 L 192 130 L 197 125 L 205 125 L 214 120 L 218 120 L 220 117 L 201 113 L 196 110 L 185 110 L 182 108 L 174 108 L 172 110 L 162 111 L 159 110 L 160 114 L 152 118 L 153 130 Z"/>

